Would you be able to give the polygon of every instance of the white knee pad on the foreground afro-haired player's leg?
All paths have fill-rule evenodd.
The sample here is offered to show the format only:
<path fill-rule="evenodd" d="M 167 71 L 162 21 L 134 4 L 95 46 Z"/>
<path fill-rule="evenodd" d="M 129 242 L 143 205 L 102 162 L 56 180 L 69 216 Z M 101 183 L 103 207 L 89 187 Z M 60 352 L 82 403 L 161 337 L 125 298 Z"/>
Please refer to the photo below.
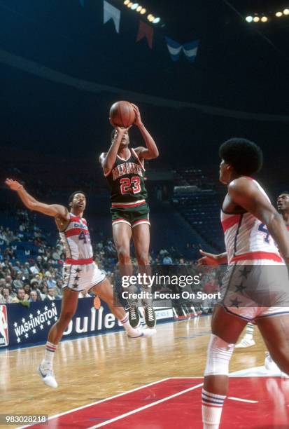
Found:
<path fill-rule="evenodd" d="M 234 344 L 229 344 L 218 336 L 211 334 L 204 375 L 228 375 L 233 350 Z"/>

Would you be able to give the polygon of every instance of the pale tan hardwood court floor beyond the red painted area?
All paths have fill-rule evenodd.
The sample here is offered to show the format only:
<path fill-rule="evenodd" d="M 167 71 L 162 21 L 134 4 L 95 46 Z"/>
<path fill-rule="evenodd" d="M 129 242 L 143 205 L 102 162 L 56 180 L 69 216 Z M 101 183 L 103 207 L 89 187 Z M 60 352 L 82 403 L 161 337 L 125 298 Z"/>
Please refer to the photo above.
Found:
<path fill-rule="evenodd" d="M 210 320 L 160 324 L 149 339 L 127 339 L 119 332 L 64 341 L 55 354 L 57 389 L 45 386 L 36 372 L 44 346 L 5 350 L 0 353 L 0 414 L 52 416 L 167 377 L 202 376 Z M 255 341 L 234 351 L 230 372 L 264 365 L 257 328 Z"/>

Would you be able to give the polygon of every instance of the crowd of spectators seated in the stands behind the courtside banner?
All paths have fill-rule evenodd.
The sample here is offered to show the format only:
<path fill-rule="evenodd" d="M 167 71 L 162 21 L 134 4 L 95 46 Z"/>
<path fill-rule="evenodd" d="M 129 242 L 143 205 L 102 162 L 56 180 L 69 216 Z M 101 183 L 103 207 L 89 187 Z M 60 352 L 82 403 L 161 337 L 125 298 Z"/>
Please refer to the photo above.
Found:
<path fill-rule="evenodd" d="M 0 304 L 55 300 L 62 297 L 62 266 L 64 247 L 60 240 L 48 243 L 49 234 L 36 224 L 34 214 L 27 210 L 15 212 L 15 229 L 0 226 Z M 24 244 L 21 258 L 19 249 Z M 28 243 L 29 245 L 26 245 Z M 197 245 L 190 245 L 197 250 Z M 117 254 L 111 238 L 94 243 L 94 257 L 99 268 L 113 280 L 117 269 Z M 132 257 L 136 266 L 136 259 Z M 183 258 L 174 246 L 150 252 L 152 266 L 192 266 L 194 261 Z M 210 280 L 211 279 L 211 280 Z M 213 273 L 208 275 L 205 288 L 210 292 L 218 286 Z M 211 287 L 209 286 L 211 282 Z M 79 297 L 90 297 L 80 292 Z"/>

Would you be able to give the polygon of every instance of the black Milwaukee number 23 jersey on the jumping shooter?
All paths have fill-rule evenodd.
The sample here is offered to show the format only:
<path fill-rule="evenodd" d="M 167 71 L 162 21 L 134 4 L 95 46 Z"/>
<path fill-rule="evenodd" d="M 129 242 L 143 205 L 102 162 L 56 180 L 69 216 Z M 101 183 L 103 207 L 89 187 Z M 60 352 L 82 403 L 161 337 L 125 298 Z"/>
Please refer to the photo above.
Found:
<path fill-rule="evenodd" d="M 145 168 L 134 149 L 129 149 L 127 159 L 118 155 L 106 179 L 111 188 L 111 203 L 139 203 L 146 200 Z"/>

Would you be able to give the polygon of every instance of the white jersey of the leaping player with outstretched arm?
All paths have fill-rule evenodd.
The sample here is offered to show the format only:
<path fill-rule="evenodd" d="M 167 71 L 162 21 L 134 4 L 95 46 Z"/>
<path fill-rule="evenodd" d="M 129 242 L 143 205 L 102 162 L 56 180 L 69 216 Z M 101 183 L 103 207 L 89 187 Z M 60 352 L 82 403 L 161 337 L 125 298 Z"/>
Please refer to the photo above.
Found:
<path fill-rule="evenodd" d="M 69 213 L 70 222 L 65 231 L 59 233 L 66 253 L 66 264 L 92 263 L 92 245 L 86 220 Z"/>

